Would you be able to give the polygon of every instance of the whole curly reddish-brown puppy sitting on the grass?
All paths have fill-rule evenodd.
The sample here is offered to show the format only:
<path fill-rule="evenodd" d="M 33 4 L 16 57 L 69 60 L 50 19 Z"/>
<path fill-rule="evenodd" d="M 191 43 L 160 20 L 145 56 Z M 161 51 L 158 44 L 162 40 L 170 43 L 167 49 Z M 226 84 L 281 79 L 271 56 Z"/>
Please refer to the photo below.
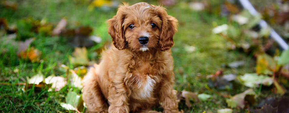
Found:
<path fill-rule="evenodd" d="M 165 8 L 137 3 L 120 5 L 108 21 L 113 45 L 83 79 L 89 112 L 177 113 L 170 48 L 178 21 Z"/>

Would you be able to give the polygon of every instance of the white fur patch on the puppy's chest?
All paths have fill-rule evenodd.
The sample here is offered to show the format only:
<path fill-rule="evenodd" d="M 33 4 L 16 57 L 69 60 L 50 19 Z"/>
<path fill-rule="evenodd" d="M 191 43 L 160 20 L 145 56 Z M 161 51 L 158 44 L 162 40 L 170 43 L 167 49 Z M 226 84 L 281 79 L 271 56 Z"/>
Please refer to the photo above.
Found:
<path fill-rule="evenodd" d="M 156 81 L 154 79 L 152 79 L 151 77 L 147 76 L 147 79 L 146 79 L 145 83 L 139 84 L 139 85 L 144 85 L 143 87 L 140 87 L 140 88 L 143 88 L 143 89 L 139 92 L 139 95 L 142 98 L 151 97 L 152 91 L 154 90 L 154 87 L 155 87 L 155 83 L 156 83 Z"/>

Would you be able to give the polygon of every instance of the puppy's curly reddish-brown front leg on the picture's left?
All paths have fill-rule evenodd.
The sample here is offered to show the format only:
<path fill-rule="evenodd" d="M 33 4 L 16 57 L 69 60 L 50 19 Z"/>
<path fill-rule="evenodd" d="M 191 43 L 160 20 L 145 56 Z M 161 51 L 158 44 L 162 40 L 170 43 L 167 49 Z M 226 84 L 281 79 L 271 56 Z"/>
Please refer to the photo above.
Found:
<path fill-rule="evenodd" d="M 108 101 L 110 106 L 109 113 L 129 113 L 128 108 L 128 88 L 126 88 L 124 81 L 114 78 L 110 84 Z"/>

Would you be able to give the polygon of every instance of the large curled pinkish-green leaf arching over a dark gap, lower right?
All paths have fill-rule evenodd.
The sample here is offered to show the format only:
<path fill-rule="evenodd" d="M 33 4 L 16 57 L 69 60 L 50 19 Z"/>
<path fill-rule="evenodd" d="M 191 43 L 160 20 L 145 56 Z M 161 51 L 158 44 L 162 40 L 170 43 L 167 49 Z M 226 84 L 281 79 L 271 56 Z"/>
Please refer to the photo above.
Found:
<path fill-rule="evenodd" d="M 248 89 L 240 94 L 234 95 L 232 98 L 226 99 L 226 102 L 231 108 L 244 108 L 246 104 L 246 95 L 252 95 L 256 101 L 256 93 L 252 89 Z"/>

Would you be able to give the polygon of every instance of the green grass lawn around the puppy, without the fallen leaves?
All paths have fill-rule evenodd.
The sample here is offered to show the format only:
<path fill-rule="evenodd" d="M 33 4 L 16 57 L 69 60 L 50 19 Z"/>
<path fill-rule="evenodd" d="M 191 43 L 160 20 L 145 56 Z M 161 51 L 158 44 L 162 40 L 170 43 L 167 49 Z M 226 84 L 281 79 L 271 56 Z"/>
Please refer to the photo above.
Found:
<path fill-rule="evenodd" d="M 0 31 L 0 112 L 77 112 L 77 110 L 66 110 L 61 106 L 61 103 L 67 102 L 66 97 L 70 95 L 68 92 L 81 95 L 81 88 L 75 87 L 73 83 L 71 84 L 73 80 L 70 79 L 70 70 L 75 71 L 75 68 L 79 69 L 80 66 L 84 65 L 85 73 L 93 62 L 98 62 L 101 51 L 111 42 L 110 35 L 107 33 L 106 20 L 116 14 L 117 8 L 99 8 L 97 6 L 89 8 L 89 0 L 12 1 L 12 3 L 17 4 L 15 10 L 13 7 L 5 5 L 4 1 L 0 5 L 0 18 L 5 18 L 10 28 L 14 26 L 17 29 L 14 36 L 11 35 L 14 33 L 13 30 L 6 30 L 4 33 Z M 158 2 L 150 0 L 125 2 L 130 4 L 137 2 L 158 4 Z M 220 6 L 226 3 L 225 1 L 211 0 L 207 2 L 210 3 L 211 8 L 204 11 L 192 10 L 189 4 L 190 1 L 179 1 L 167 7 L 168 14 L 179 21 L 178 32 L 174 36 L 175 45 L 171 48 L 176 78 L 174 89 L 178 92 L 191 91 L 211 96 L 200 102 L 197 102 L 196 99 L 190 99 L 190 108 L 183 99 L 179 103 L 179 109 L 183 109 L 188 113 L 216 112 L 223 108 L 232 108 L 234 112 L 246 112 L 248 111 L 247 108 L 255 108 L 258 105 L 257 103 L 266 97 L 277 98 L 277 100 L 281 97 L 288 97 L 288 91 L 286 90 L 283 95 L 274 94 L 271 91 L 273 86 L 263 87 L 261 85 L 259 88 L 252 88 L 256 92 L 254 95 L 258 95 L 256 100 L 251 99 L 257 101 L 255 104 L 246 104 L 245 108 L 230 107 L 226 103 L 228 98 L 225 98 L 224 95 L 233 96 L 250 88 L 243 85 L 239 79 L 231 81 L 232 87 L 230 88 L 218 89 L 218 87 L 209 85 L 211 79 L 209 80 L 207 75 L 234 74 L 239 76 L 246 73 L 255 73 L 255 67 L 258 64 L 256 64 L 254 50 L 247 52 L 238 47 L 237 49 L 228 49 L 231 46 L 224 35 L 212 32 L 218 25 L 229 24 L 235 28 L 238 28 L 239 25 L 232 22 L 232 19 L 228 16 L 219 14 L 221 13 Z M 74 52 L 79 45 L 78 42 L 75 42 L 76 39 L 79 39 L 75 34 L 72 34 L 71 37 L 66 36 L 71 35 L 69 32 L 67 34 L 51 35 L 52 30 L 62 18 L 67 22 L 65 28 L 67 31 L 75 31 L 75 29 L 80 28 L 91 29 L 92 32 L 89 33 L 89 36 L 101 38 L 101 42 L 86 48 L 87 55 L 84 55 L 86 55 L 89 62 L 84 61 L 83 64 L 82 61 L 75 62 L 71 60 L 72 57 L 77 57 Z M 37 22 L 38 24 L 42 22 L 43 25 L 36 25 Z M 42 31 L 35 30 L 35 26 L 43 28 Z M 230 37 L 230 35 L 228 36 Z M 22 54 L 19 55 L 20 43 L 31 37 L 35 38 L 27 49 L 28 51 L 37 50 L 35 54 L 41 54 L 36 61 L 32 61 L 27 57 L 23 58 Z M 278 55 L 280 55 L 279 53 Z M 243 61 L 244 64 L 235 68 L 228 66 L 234 61 Z M 222 74 L 215 74 L 216 72 Z M 75 73 L 80 78 L 84 75 L 79 70 Z M 50 75 L 64 77 L 67 84 L 59 91 L 49 91 L 48 85 L 28 85 L 28 79 L 37 74 L 43 75 L 44 78 Z M 285 81 L 280 82 L 280 84 L 288 89 L 287 79 L 282 78 L 280 80 L 280 78 L 278 78 L 278 81 Z M 26 91 L 23 91 L 23 88 Z M 86 108 L 78 110 L 85 112 Z M 156 110 L 160 110 L 160 108 L 156 108 Z"/>

